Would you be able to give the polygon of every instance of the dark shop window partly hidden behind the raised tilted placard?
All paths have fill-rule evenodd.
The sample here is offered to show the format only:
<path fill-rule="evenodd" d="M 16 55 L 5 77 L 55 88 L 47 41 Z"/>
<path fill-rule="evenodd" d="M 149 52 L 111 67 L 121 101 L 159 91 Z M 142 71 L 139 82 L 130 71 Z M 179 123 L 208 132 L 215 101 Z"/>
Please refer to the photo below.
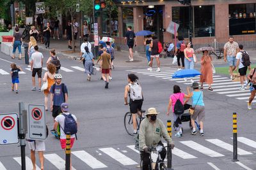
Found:
<path fill-rule="evenodd" d="M 172 20 L 179 24 L 178 34 L 184 38 L 189 36 L 189 7 L 172 7 Z"/>

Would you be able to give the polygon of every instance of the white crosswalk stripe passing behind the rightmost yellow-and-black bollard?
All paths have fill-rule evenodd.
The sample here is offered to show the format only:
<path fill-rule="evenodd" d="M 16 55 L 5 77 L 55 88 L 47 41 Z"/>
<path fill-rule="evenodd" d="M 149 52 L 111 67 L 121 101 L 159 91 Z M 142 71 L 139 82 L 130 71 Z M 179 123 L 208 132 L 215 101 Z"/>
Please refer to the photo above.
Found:
<path fill-rule="evenodd" d="M 233 152 L 233 146 L 230 145 L 229 143 L 225 143 L 225 142 L 221 141 L 220 139 L 205 139 L 205 140 L 209 141 L 210 143 L 217 145 L 225 150 Z M 238 153 L 238 155 L 252 155 L 252 153 L 242 150 L 240 148 L 237 148 L 237 153 Z"/>

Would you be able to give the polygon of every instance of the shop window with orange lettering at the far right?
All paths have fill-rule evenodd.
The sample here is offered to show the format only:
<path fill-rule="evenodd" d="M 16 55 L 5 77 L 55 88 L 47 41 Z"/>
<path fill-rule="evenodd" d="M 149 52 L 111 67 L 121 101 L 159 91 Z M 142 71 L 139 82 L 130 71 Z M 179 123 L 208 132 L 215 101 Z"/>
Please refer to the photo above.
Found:
<path fill-rule="evenodd" d="M 230 4 L 229 34 L 255 34 L 256 4 Z"/>

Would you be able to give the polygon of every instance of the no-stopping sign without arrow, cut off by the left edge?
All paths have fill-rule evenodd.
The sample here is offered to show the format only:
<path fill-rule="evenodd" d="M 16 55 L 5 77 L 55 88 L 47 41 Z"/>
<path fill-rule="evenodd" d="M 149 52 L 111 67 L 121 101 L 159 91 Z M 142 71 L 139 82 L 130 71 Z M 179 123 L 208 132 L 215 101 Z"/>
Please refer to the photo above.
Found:
<path fill-rule="evenodd" d="M 17 122 L 17 113 L 0 113 L 0 145 L 19 143 Z"/>

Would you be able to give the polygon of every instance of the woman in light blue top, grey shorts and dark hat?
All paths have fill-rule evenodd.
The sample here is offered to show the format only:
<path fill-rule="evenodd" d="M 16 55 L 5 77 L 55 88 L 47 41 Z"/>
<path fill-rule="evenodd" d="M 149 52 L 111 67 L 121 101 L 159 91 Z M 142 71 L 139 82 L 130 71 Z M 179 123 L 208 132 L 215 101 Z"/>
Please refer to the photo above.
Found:
<path fill-rule="evenodd" d="M 204 136 L 204 94 L 202 90 L 199 89 L 198 83 L 193 83 L 191 88 L 193 88 L 193 92 L 190 92 L 188 89 L 188 96 L 189 98 L 192 98 L 192 106 L 189 109 L 189 113 L 191 114 L 191 125 L 193 127 L 191 134 L 196 134 L 195 120 L 198 118 L 198 122 L 200 124 L 200 136 Z"/>

